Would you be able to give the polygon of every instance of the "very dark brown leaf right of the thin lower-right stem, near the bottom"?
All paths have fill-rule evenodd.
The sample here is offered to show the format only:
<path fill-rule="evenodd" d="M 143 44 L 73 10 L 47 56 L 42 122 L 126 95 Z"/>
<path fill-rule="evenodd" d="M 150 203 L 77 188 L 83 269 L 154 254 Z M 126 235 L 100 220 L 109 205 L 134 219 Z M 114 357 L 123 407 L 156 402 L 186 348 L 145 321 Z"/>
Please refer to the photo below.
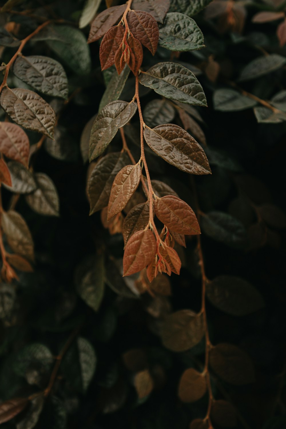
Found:
<path fill-rule="evenodd" d="M 241 386 L 253 383 L 253 363 L 249 356 L 233 344 L 217 344 L 210 351 L 210 365 L 214 372 L 228 383 Z"/>

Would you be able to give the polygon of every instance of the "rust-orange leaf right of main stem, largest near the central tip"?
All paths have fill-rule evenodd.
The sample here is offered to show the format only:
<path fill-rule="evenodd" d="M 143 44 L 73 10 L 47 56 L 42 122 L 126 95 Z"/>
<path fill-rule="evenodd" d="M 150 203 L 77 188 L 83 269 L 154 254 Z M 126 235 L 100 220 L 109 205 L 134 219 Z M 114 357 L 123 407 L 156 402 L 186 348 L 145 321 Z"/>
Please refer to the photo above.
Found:
<path fill-rule="evenodd" d="M 154 203 L 157 218 L 170 230 L 179 234 L 200 234 L 195 213 L 182 199 L 174 195 L 157 198 Z"/>

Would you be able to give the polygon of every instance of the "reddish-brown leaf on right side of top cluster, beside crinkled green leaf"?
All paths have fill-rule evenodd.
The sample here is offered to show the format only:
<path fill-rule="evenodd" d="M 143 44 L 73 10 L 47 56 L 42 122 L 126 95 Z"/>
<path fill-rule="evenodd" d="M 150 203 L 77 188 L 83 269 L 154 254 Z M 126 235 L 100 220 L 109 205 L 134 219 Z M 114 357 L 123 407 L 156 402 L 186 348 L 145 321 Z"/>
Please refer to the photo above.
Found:
<path fill-rule="evenodd" d="M 127 14 L 127 22 L 132 35 L 154 55 L 159 40 L 156 19 L 143 10 L 130 10 Z"/>

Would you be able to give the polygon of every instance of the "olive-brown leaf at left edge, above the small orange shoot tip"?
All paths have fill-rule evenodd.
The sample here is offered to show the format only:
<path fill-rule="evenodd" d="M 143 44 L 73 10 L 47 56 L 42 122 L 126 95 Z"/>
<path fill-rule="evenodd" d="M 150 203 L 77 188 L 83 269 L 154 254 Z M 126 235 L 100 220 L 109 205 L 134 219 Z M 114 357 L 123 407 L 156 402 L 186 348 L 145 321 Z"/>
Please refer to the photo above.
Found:
<path fill-rule="evenodd" d="M 19 213 L 9 210 L 2 213 L 2 228 L 11 249 L 28 260 L 34 259 L 34 244 L 30 230 Z"/>

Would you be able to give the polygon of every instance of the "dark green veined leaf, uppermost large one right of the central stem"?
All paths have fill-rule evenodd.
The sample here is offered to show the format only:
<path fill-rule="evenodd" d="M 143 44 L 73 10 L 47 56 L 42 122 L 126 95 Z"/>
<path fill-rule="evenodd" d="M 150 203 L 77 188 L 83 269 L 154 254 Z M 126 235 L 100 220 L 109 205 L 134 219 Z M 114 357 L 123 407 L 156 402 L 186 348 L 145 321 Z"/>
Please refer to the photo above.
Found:
<path fill-rule="evenodd" d="M 158 63 L 147 72 L 141 72 L 140 83 L 171 100 L 207 106 L 205 93 L 198 79 L 181 64 Z"/>

